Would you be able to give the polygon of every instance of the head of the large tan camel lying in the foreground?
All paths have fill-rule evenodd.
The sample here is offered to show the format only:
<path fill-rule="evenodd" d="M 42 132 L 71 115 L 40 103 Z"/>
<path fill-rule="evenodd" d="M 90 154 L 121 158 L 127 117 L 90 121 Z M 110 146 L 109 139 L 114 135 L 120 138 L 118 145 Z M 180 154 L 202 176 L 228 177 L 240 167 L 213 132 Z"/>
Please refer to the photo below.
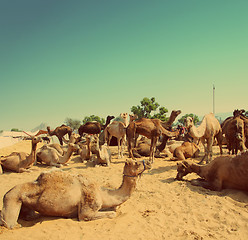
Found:
<path fill-rule="evenodd" d="M 138 177 L 140 176 L 145 170 L 151 169 L 151 164 L 149 161 L 134 161 L 132 159 L 127 159 L 123 175 L 128 177 Z"/>

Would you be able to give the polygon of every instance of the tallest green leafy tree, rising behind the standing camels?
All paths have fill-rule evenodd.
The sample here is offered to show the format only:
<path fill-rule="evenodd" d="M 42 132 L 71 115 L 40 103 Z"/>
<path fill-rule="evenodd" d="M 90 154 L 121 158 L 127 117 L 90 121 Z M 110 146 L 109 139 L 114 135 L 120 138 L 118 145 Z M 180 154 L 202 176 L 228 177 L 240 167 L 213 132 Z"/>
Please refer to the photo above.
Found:
<path fill-rule="evenodd" d="M 140 101 L 140 105 L 138 106 L 132 106 L 131 112 L 136 114 L 138 118 L 158 118 L 163 121 L 166 121 L 166 113 L 168 112 L 168 109 L 165 107 L 159 108 L 159 113 L 155 113 L 154 115 L 151 115 L 152 111 L 156 111 L 157 108 L 160 105 L 155 101 L 155 98 L 152 97 L 151 99 L 144 97 Z"/>

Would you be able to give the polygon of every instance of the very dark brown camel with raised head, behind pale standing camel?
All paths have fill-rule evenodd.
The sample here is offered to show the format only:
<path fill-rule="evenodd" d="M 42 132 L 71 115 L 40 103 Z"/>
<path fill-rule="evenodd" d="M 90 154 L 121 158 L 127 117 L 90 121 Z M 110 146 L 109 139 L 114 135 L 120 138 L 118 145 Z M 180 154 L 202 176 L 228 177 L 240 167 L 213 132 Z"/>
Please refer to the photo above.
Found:
<path fill-rule="evenodd" d="M 101 123 L 99 122 L 86 122 L 79 127 L 78 134 L 80 135 L 80 137 L 82 137 L 84 133 L 100 134 L 101 131 L 104 130 L 108 126 L 110 121 L 114 118 L 114 116 L 107 116 L 105 125 L 101 125 Z"/>

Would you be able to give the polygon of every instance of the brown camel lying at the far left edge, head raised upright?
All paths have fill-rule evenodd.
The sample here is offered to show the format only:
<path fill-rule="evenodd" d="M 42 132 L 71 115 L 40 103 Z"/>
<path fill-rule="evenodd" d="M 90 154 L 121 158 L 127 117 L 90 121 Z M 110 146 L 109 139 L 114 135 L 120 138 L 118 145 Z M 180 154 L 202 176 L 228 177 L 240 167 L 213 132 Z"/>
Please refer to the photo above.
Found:
<path fill-rule="evenodd" d="M 13 152 L 8 156 L 0 157 L 0 173 L 2 173 L 2 167 L 17 173 L 30 171 L 28 168 L 33 166 L 35 162 L 36 148 L 39 142 L 41 142 L 40 137 L 32 137 L 32 149 L 30 154 L 25 152 Z"/>

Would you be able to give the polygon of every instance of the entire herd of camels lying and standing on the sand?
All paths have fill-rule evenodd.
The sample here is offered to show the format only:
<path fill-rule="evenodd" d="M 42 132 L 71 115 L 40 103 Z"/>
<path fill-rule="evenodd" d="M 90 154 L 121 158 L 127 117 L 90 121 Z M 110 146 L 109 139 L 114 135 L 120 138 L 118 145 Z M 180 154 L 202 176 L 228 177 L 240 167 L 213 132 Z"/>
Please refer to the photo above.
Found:
<path fill-rule="evenodd" d="M 39 215 L 77 217 L 79 221 L 113 218 L 116 207 L 130 198 L 138 177 L 152 168 L 156 157 L 170 156 L 170 160 L 177 160 L 177 180 L 195 172 L 201 179 L 192 180 L 193 185 L 215 191 L 223 188 L 248 191 L 248 118 L 244 112 L 235 110 L 233 116 L 222 124 L 213 113 L 206 114 L 199 126 L 194 125 L 191 117 L 186 117 L 187 134 L 180 144 L 168 141 L 180 137 L 180 132 L 172 129 L 180 110 L 172 111 L 166 122 L 137 119 L 136 115 L 121 113 L 118 118 L 108 116 L 105 125 L 87 122 L 79 127 L 78 133 L 66 125 L 53 131 L 49 127 L 47 131 L 40 130 L 36 136 L 31 136 L 30 154 L 13 152 L 1 156 L 0 174 L 2 169 L 17 173 L 30 171 L 38 163 L 59 168 L 67 165 L 73 154 L 78 154 L 82 161 L 93 159 L 96 165 L 110 166 L 109 146 L 115 142 L 118 158 L 124 157 L 125 146 L 128 150 L 122 184 L 116 190 L 103 190 L 81 174 L 73 175 L 61 169 L 43 172 L 35 181 L 19 184 L 4 195 L 0 225 L 11 229 L 18 226 L 18 218 L 33 219 Z M 42 141 L 41 134 L 57 136 L 60 143 L 47 143 L 37 149 L 37 144 Z M 66 134 L 69 140 L 65 140 Z M 215 142 L 219 145 L 220 155 L 225 142 L 229 155 L 212 159 Z M 205 153 L 201 161 L 195 163 L 193 158 L 199 155 L 200 144 L 203 144 Z M 149 159 L 137 161 L 139 157 Z"/>

